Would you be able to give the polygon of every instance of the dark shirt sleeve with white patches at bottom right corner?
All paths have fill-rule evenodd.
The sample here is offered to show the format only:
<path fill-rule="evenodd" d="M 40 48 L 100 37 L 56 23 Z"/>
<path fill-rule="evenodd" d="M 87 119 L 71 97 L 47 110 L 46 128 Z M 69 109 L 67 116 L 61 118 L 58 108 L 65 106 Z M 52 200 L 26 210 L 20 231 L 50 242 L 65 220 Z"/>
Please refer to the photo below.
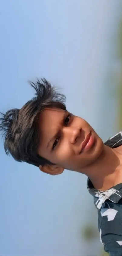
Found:
<path fill-rule="evenodd" d="M 100 240 L 110 256 L 122 256 L 122 207 L 105 203 L 98 218 Z"/>

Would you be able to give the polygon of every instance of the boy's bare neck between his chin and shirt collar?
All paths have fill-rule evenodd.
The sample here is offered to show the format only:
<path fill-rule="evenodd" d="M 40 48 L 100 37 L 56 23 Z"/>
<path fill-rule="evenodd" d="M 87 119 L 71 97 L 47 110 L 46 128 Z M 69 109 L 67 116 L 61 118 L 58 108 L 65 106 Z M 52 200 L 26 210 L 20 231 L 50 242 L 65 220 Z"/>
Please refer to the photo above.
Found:
<path fill-rule="evenodd" d="M 104 145 L 103 151 L 84 174 L 95 189 L 107 190 L 122 182 L 122 153 L 120 147 L 112 149 Z"/>

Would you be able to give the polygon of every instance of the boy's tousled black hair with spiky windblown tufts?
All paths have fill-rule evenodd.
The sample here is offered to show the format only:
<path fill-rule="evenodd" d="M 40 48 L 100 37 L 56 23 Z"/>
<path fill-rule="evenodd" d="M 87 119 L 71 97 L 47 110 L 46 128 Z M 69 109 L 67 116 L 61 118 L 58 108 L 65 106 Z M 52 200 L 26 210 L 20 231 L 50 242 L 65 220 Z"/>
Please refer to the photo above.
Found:
<path fill-rule="evenodd" d="M 37 153 L 38 149 L 38 114 L 45 107 L 56 106 L 66 110 L 66 97 L 45 79 L 29 82 L 35 89 L 35 97 L 21 109 L 11 109 L 0 118 L 0 131 L 3 132 L 4 149 L 7 155 L 19 162 L 26 162 L 37 167 L 52 164 Z"/>

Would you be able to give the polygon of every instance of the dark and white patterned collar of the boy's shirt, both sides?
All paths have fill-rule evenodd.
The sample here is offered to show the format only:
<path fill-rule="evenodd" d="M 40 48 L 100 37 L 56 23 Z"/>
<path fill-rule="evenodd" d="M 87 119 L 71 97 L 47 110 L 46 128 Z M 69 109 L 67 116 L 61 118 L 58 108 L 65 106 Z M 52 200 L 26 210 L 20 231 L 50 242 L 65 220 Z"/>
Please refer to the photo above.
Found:
<path fill-rule="evenodd" d="M 111 148 L 121 146 L 122 131 L 118 132 L 116 135 L 109 138 L 106 142 L 104 142 L 104 144 Z M 101 209 L 102 204 L 104 204 L 105 200 L 107 199 L 114 203 L 118 203 L 118 201 L 122 198 L 122 183 L 117 184 L 116 186 L 113 186 L 108 190 L 100 191 L 94 188 L 91 180 L 88 178 L 87 189 L 88 192 L 94 197 L 94 204 L 97 207 L 97 209 Z"/>

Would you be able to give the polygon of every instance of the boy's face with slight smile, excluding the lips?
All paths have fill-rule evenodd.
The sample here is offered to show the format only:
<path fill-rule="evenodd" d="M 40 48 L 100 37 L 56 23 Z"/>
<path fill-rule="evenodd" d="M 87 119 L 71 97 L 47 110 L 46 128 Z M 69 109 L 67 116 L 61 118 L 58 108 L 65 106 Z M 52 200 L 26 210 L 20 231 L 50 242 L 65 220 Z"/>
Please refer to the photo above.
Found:
<path fill-rule="evenodd" d="M 56 165 L 53 171 L 49 170 L 49 166 L 45 169 L 50 174 L 61 173 L 64 169 L 82 172 L 97 160 L 103 150 L 103 141 L 94 129 L 81 117 L 62 109 L 43 110 L 38 117 L 38 130 L 38 154 Z M 94 142 L 81 153 L 83 142 L 90 132 Z"/>

